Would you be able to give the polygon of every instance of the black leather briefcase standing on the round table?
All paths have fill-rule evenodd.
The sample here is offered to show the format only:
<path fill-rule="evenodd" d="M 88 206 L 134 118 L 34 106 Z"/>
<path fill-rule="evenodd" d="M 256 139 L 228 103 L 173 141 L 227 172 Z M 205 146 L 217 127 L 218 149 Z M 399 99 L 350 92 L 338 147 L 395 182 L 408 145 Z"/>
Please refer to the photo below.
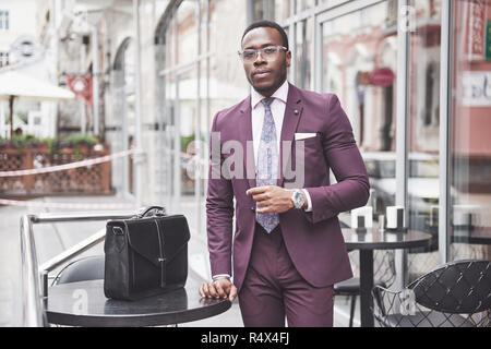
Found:
<path fill-rule="evenodd" d="M 148 216 L 149 212 L 156 212 Z M 139 300 L 183 287 L 188 278 L 188 221 L 163 207 L 142 209 L 133 218 L 109 220 L 104 244 L 104 293 Z"/>

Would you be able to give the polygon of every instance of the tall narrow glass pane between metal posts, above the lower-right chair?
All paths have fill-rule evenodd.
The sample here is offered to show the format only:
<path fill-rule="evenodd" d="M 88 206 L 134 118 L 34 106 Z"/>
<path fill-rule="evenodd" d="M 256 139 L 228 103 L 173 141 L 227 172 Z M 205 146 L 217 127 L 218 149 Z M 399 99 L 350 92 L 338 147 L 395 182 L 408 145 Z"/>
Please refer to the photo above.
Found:
<path fill-rule="evenodd" d="M 410 2 L 408 95 L 408 225 L 433 236 L 428 249 L 409 250 L 408 281 L 440 264 L 440 0 Z"/>

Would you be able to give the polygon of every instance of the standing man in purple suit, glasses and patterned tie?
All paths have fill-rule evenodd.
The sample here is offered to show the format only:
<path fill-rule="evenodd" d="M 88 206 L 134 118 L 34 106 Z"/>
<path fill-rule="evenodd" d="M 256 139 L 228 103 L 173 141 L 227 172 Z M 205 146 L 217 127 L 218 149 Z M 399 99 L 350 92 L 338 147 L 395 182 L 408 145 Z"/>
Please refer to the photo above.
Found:
<path fill-rule="evenodd" d="M 337 215 L 369 197 L 349 120 L 336 95 L 287 82 L 291 52 L 278 24 L 250 25 L 239 55 L 253 88 L 213 120 L 213 282 L 200 294 L 238 296 L 246 326 L 282 327 L 285 317 L 288 326 L 333 326 L 333 285 L 352 277 Z"/>

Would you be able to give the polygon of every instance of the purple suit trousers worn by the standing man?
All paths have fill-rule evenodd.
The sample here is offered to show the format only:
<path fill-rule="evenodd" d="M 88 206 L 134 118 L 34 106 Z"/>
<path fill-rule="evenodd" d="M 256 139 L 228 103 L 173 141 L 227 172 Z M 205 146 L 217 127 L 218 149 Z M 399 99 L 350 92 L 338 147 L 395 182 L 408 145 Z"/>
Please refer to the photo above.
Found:
<path fill-rule="evenodd" d="M 309 253 L 309 251 L 306 251 Z M 239 306 L 246 327 L 332 327 L 333 286 L 316 288 L 295 268 L 279 225 L 267 233 L 255 224 Z"/>

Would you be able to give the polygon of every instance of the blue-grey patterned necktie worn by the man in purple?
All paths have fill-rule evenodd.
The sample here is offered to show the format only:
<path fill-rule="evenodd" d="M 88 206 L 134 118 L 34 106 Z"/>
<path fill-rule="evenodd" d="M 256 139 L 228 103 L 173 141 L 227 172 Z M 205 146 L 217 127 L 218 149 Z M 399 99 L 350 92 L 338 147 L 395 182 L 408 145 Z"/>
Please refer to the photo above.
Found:
<path fill-rule="evenodd" d="M 272 97 L 264 98 L 261 103 L 264 105 L 263 130 L 261 131 L 261 141 L 258 149 L 256 164 L 256 185 L 276 185 L 278 173 L 278 147 L 276 141 L 276 128 L 273 113 L 271 112 Z M 261 207 L 256 207 L 261 208 Z M 255 213 L 255 220 L 267 231 L 271 232 L 279 224 L 278 214 Z"/>

